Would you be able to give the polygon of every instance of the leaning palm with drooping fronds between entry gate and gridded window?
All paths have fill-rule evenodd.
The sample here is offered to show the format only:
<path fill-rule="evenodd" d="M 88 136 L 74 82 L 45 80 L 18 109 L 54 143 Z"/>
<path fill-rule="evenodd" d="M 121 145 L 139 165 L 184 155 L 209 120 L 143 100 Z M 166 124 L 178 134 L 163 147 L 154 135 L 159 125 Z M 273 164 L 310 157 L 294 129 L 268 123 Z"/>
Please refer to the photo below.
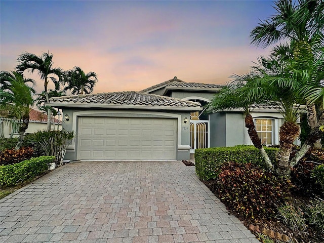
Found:
<path fill-rule="evenodd" d="M 239 88 L 245 86 L 245 84 L 248 82 L 247 80 L 251 78 L 251 75 L 234 75 L 233 78 L 234 80 L 230 84 L 223 86 L 222 89 L 215 94 L 212 102 L 209 104 L 209 110 L 241 110 L 245 115 L 245 124 L 246 128 L 248 129 L 250 139 L 253 145 L 259 149 L 268 170 L 271 170 L 273 165 L 261 144 L 261 140 L 258 136 L 253 117 L 251 115 L 254 101 L 246 100 L 245 97 L 240 96 L 239 93 Z"/>

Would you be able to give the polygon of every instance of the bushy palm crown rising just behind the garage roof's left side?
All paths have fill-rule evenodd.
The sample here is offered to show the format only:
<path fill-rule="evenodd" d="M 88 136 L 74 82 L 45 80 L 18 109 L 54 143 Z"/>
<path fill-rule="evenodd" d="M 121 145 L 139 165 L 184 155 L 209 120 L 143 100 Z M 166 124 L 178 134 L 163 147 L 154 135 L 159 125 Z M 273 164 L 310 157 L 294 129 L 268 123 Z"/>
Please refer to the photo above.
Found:
<path fill-rule="evenodd" d="M 90 94 L 98 81 L 95 72 L 88 72 L 87 74 L 80 68 L 74 67 L 65 73 L 65 83 L 67 86 L 65 91 L 70 90 L 71 94 Z"/>

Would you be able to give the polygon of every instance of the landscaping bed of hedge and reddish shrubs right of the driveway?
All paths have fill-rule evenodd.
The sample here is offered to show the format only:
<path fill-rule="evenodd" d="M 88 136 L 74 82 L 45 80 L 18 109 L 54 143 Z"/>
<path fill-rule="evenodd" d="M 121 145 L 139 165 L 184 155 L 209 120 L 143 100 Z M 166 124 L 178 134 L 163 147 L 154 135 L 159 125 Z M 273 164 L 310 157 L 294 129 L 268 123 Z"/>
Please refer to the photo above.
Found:
<path fill-rule="evenodd" d="M 323 150 L 310 151 L 290 179 L 264 170 L 254 148 L 196 151 L 200 180 L 261 242 L 324 242 Z"/>

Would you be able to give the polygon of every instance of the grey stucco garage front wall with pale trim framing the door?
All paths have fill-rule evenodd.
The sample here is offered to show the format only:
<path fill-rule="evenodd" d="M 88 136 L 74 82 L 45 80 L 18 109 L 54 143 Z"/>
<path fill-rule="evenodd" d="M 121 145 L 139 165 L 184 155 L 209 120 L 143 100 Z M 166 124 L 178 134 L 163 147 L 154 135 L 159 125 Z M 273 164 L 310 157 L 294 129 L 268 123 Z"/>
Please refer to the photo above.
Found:
<path fill-rule="evenodd" d="M 178 141 L 177 141 L 177 159 L 189 159 L 189 150 L 179 150 L 179 145 L 190 145 L 190 129 L 189 120 L 184 123 L 185 117 L 190 117 L 189 112 L 173 112 L 173 111 L 147 111 L 147 110 L 84 110 L 84 109 L 64 109 L 63 114 L 68 114 L 69 120 L 63 123 L 63 128 L 67 131 L 74 131 L 76 134 L 64 159 L 76 159 L 77 149 L 77 117 L 78 116 L 113 116 L 113 117 L 147 117 L 147 118 L 177 118 L 178 119 Z M 180 133 L 179 133 L 180 130 Z"/>

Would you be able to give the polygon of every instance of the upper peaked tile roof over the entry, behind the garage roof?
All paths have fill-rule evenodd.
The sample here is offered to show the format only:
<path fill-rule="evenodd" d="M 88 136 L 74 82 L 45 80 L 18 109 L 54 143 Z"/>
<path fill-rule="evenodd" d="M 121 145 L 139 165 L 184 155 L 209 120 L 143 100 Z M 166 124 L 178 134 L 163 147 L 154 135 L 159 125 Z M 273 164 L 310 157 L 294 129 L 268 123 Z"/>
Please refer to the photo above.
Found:
<path fill-rule="evenodd" d="M 220 89 L 222 88 L 222 85 L 215 85 L 215 84 L 203 84 L 203 83 L 186 83 L 181 79 L 178 79 L 177 77 L 174 77 L 173 79 L 169 79 L 166 82 L 157 84 L 157 85 L 153 85 L 147 89 L 144 89 L 140 92 L 148 92 L 151 90 L 154 90 L 156 88 L 159 87 L 165 87 L 167 86 L 168 89 L 170 88 L 188 88 L 188 89 L 211 89 L 211 90 L 215 90 L 215 89 Z"/>

